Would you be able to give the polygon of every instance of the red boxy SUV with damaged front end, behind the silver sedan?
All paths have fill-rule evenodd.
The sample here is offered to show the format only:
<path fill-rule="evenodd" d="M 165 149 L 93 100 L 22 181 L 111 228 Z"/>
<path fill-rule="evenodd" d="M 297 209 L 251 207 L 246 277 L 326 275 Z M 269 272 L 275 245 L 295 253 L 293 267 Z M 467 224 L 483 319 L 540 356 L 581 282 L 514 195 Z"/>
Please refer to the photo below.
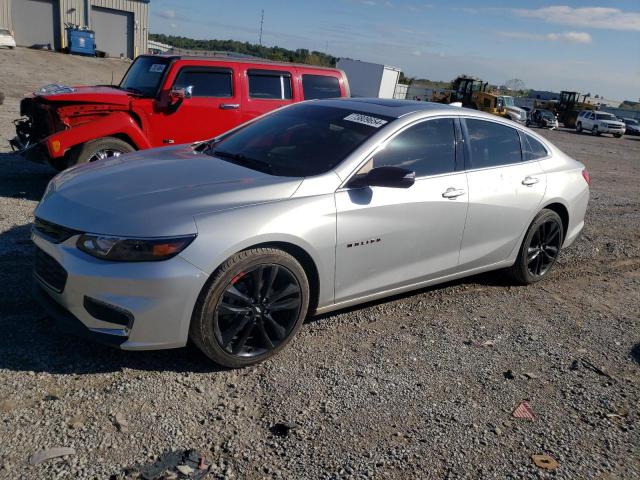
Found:
<path fill-rule="evenodd" d="M 63 170 L 133 150 L 212 138 L 289 103 L 348 96 L 340 70 L 143 55 L 118 86 L 48 85 L 23 99 L 11 145 Z"/>

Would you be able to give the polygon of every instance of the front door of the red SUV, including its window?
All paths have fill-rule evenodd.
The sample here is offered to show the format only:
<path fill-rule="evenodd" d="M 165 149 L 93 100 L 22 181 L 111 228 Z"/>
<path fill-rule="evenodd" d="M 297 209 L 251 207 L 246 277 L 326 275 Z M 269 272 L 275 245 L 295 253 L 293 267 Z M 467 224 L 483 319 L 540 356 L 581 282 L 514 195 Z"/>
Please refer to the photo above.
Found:
<path fill-rule="evenodd" d="M 232 66 L 179 65 L 153 120 L 156 145 L 215 137 L 240 123 L 240 88 Z M 169 101 L 171 89 L 192 87 L 192 97 Z"/>

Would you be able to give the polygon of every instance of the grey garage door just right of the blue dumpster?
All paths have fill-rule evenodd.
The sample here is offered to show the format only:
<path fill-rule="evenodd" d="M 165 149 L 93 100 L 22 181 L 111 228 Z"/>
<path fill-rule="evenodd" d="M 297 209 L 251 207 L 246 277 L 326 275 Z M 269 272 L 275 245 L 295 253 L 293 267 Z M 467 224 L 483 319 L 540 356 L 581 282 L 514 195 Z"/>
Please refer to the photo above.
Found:
<path fill-rule="evenodd" d="M 93 7 L 91 27 L 96 32 L 96 47 L 110 57 L 133 58 L 133 13 Z"/>

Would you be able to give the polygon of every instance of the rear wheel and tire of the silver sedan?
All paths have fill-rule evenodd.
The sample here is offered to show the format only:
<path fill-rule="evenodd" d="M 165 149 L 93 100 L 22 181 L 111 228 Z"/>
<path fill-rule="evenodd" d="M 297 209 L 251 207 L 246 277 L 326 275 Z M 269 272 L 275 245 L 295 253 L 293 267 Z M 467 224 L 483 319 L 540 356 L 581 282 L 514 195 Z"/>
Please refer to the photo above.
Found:
<path fill-rule="evenodd" d="M 553 236 L 551 241 L 540 241 L 541 228 L 548 231 L 549 236 Z M 507 273 L 520 285 L 528 285 L 542 280 L 555 265 L 563 243 L 564 227 L 560 216 L 553 210 L 540 211 L 531 222 L 522 240 L 516 262 L 507 270 Z M 553 249 L 556 249 L 555 254 L 553 254 Z M 553 258 L 549 258 L 550 253 Z M 541 269 L 540 274 L 535 274 L 531 270 L 536 269 L 536 259 L 540 260 L 538 257 L 541 257 L 542 261 L 548 262 L 548 264 L 543 265 L 544 269 Z"/>

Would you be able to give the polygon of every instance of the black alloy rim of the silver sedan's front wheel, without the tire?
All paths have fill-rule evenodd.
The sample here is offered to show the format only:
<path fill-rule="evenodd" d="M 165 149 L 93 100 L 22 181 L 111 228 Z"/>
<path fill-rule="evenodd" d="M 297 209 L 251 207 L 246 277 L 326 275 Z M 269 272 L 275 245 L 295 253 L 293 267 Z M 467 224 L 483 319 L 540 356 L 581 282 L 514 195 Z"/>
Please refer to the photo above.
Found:
<path fill-rule="evenodd" d="M 239 273 L 214 312 L 216 340 L 232 355 L 264 355 L 293 330 L 301 297 L 298 280 L 281 265 L 261 264 Z"/>

